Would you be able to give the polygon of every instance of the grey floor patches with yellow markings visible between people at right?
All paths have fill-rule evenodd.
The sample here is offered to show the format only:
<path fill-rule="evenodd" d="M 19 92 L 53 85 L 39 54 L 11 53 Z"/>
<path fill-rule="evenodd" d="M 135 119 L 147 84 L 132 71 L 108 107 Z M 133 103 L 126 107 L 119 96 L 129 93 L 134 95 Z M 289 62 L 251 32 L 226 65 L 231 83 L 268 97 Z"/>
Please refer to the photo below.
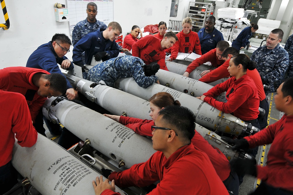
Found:
<path fill-rule="evenodd" d="M 273 95 L 275 95 L 275 94 L 273 94 Z M 269 112 L 269 117 L 268 117 L 269 125 L 272 125 L 275 122 L 277 122 L 278 120 L 280 120 L 283 113 L 276 109 L 272 93 L 270 93 L 268 95 L 268 102 L 269 102 L 269 105 L 270 105 L 270 103 L 272 103 L 270 106 L 270 112 Z M 265 158 L 264 158 L 263 165 L 266 164 L 269 149 L 270 149 L 270 144 L 266 145 L 266 147 L 265 147 Z M 260 146 L 258 149 L 258 154 L 256 156 L 257 162 L 259 162 L 259 157 L 260 157 L 261 153 L 262 153 L 262 146 Z M 250 192 L 252 192 L 254 189 L 255 189 L 255 177 L 252 177 L 250 175 L 246 175 L 243 178 L 243 183 L 240 185 L 239 195 L 250 194 Z"/>

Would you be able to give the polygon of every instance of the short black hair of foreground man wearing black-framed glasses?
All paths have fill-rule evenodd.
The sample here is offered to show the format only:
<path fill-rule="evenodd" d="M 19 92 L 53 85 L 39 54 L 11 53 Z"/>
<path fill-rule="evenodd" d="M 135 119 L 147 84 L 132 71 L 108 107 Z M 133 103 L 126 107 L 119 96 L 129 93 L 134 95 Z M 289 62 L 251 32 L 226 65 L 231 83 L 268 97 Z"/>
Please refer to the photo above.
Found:
<path fill-rule="evenodd" d="M 170 125 L 177 134 L 182 138 L 183 142 L 190 143 L 195 134 L 195 115 L 183 106 L 166 106 L 159 111 L 161 120 L 166 125 Z"/>

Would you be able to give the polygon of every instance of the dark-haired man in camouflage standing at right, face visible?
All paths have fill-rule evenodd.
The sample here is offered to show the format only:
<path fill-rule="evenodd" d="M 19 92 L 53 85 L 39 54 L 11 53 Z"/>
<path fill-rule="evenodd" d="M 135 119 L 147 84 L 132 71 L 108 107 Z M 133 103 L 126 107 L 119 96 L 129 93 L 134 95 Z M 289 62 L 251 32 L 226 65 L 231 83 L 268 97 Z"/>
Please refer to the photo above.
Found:
<path fill-rule="evenodd" d="M 270 90 L 267 93 L 275 92 L 285 79 L 285 73 L 288 69 L 288 52 L 279 45 L 283 35 L 281 29 L 272 30 L 265 46 L 259 47 L 251 56 L 251 60 L 257 63 L 256 69 L 263 84 L 270 85 Z"/>

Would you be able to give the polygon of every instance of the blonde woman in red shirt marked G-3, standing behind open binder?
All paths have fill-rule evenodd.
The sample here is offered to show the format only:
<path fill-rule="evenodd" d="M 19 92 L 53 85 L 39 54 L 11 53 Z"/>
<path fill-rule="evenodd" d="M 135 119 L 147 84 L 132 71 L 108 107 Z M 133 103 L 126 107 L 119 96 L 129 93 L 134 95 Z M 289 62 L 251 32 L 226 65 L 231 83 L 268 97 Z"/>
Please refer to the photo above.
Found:
<path fill-rule="evenodd" d="M 187 17 L 182 21 L 183 30 L 176 34 L 178 37 L 178 42 L 172 47 L 168 49 L 168 53 L 171 53 L 170 58 L 167 61 L 173 61 L 177 58 L 178 52 L 189 53 L 190 51 L 202 55 L 201 47 L 200 47 L 200 39 L 196 32 L 191 31 L 192 28 L 192 20 Z"/>

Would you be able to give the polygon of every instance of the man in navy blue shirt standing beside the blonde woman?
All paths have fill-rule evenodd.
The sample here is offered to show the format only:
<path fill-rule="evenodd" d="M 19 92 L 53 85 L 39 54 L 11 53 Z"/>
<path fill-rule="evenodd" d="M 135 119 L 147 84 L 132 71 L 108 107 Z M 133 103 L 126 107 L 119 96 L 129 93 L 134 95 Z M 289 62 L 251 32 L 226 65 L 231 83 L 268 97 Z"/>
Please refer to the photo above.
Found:
<path fill-rule="evenodd" d="M 214 16 L 209 16 L 205 21 L 205 27 L 197 33 L 200 39 L 202 55 L 215 49 L 219 41 L 224 41 L 223 34 L 214 27 L 215 21 Z"/>

